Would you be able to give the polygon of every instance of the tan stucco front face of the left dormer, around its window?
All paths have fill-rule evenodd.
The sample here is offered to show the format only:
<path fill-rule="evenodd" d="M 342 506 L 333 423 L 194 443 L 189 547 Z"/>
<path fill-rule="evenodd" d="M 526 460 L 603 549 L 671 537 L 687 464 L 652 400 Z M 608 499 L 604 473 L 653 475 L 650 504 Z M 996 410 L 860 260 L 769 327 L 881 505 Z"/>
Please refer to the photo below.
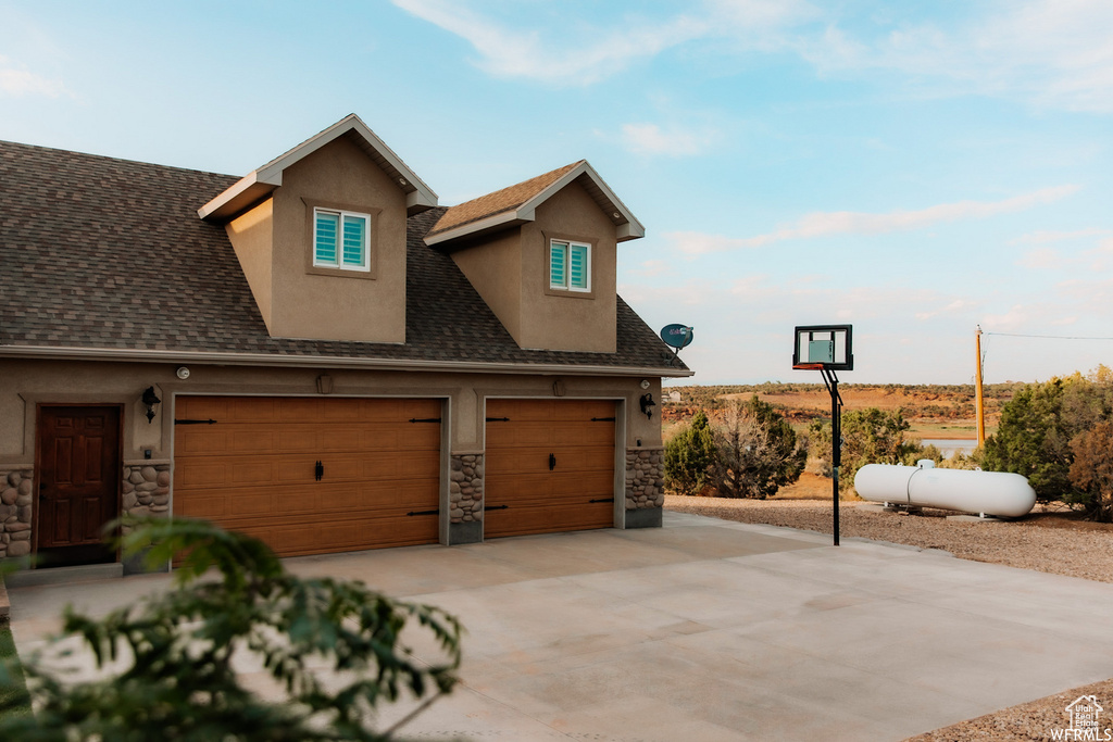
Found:
<path fill-rule="evenodd" d="M 314 206 L 372 216 L 370 273 L 312 268 Z M 405 342 L 405 195 L 363 150 L 336 139 L 287 168 L 273 222 L 272 335 Z"/>

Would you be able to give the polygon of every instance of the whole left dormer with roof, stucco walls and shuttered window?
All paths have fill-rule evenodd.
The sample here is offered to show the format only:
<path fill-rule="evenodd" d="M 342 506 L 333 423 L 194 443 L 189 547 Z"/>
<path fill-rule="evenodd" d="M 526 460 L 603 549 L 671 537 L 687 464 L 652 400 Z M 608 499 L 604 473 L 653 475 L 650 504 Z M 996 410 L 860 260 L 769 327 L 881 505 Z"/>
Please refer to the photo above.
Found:
<path fill-rule="evenodd" d="M 353 113 L 197 214 L 225 226 L 272 337 L 405 343 L 406 217 L 434 206 Z"/>

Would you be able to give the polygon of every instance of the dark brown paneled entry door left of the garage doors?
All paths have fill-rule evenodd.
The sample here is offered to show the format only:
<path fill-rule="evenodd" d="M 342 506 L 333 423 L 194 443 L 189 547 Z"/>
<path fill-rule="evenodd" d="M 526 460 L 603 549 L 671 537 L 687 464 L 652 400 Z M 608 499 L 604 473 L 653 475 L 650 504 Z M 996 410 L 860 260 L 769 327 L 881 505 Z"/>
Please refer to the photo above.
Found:
<path fill-rule="evenodd" d="M 119 513 L 120 408 L 39 407 L 42 566 L 111 562 L 102 530 Z"/>

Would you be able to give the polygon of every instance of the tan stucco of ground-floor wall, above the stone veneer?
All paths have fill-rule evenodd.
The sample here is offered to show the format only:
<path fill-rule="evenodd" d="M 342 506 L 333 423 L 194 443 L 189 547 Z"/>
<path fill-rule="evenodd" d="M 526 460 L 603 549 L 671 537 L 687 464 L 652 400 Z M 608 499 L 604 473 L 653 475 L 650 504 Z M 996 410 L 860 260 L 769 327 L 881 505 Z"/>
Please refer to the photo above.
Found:
<path fill-rule="evenodd" d="M 317 377 L 332 379 L 332 396 L 439 397 L 447 402 L 452 453 L 482 451 L 484 403 L 487 397 L 604 398 L 624 402 L 620 425 L 626 445 L 661 444 L 659 407 L 652 419 L 638 400 L 649 392 L 660 404 L 660 379 L 647 377 L 540 376 L 512 374 L 454 374 L 425 372 L 327 370 L 183 364 L 189 378 L 175 375 L 177 364 L 67 363 L 0 359 L 0 464 L 27 464 L 35 457 L 35 419 L 38 404 L 124 405 L 125 461 L 169 459 L 174 434 L 173 399 L 176 394 L 318 396 Z M 139 397 L 154 386 L 162 399 L 152 423 L 144 416 Z M 559 393 L 559 394 L 558 394 Z"/>

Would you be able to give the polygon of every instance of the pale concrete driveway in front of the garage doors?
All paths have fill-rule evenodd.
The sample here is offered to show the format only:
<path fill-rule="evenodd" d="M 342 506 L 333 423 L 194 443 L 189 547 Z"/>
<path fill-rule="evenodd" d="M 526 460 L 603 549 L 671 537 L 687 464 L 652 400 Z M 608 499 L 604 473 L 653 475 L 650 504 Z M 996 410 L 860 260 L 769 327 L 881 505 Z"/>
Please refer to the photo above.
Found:
<path fill-rule="evenodd" d="M 902 740 L 1113 676 L 1113 585 L 829 543 L 666 513 L 286 564 L 461 617 L 463 683 L 403 730 L 422 739 Z M 20 652 L 66 602 L 102 612 L 165 584 L 10 588 Z"/>

